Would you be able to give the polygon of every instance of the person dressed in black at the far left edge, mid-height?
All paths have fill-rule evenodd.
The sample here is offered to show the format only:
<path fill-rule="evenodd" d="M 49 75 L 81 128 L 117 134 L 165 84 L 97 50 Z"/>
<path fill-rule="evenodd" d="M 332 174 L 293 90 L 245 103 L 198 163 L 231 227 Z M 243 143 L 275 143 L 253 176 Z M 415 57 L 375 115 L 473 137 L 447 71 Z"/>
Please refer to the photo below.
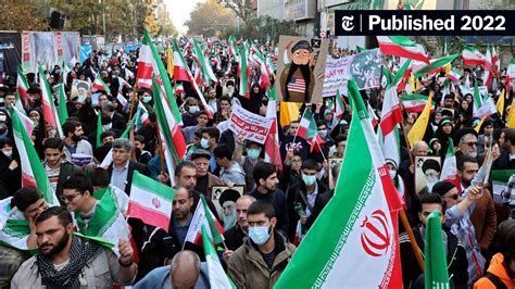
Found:
<path fill-rule="evenodd" d="M 22 185 L 20 156 L 13 150 L 14 141 L 0 137 L 0 200 L 13 196 Z"/>

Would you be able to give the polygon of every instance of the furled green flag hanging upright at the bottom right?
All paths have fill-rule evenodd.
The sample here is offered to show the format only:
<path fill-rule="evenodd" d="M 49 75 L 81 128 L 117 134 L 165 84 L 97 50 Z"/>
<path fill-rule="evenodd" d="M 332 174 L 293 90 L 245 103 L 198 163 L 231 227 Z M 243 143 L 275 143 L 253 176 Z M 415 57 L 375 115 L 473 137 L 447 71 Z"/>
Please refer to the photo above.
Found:
<path fill-rule="evenodd" d="M 435 211 L 426 219 L 426 246 L 424 246 L 425 288 L 451 288 L 447 254 L 442 240 L 440 214 L 438 211 Z"/>

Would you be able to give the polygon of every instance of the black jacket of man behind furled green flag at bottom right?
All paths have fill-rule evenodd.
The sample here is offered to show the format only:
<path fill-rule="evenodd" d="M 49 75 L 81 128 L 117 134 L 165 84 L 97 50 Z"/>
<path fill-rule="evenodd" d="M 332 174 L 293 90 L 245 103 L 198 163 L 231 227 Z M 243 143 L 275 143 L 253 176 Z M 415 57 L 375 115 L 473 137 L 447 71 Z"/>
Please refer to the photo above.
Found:
<path fill-rule="evenodd" d="M 413 235 L 415 235 L 415 240 L 417 247 L 423 253 L 424 257 L 424 238 L 420 235 L 420 226 L 413 228 Z M 449 276 L 452 276 L 452 281 L 454 282 L 454 288 L 467 288 L 468 281 L 468 261 L 462 243 L 456 236 L 452 235 L 450 230 L 443 228 L 447 233 L 447 263 Z M 402 267 L 402 279 L 404 282 L 404 288 L 410 288 L 413 282 L 420 276 L 422 271 L 416 261 L 415 254 L 411 247 L 410 238 L 405 233 L 401 234 L 399 237 L 400 248 L 401 248 L 401 267 Z M 451 286 L 452 287 L 452 286 Z"/>

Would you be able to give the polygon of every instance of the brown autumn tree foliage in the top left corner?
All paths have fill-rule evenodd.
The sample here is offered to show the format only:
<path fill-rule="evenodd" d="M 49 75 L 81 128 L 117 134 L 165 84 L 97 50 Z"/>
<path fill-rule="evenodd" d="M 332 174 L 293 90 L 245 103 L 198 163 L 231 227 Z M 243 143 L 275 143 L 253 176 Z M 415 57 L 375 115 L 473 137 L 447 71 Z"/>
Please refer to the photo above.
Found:
<path fill-rule="evenodd" d="M 48 30 L 48 20 L 35 16 L 37 8 L 21 3 L 15 0 L 7 0 L 0 3 L 0 27 L 2 30 Z"/>

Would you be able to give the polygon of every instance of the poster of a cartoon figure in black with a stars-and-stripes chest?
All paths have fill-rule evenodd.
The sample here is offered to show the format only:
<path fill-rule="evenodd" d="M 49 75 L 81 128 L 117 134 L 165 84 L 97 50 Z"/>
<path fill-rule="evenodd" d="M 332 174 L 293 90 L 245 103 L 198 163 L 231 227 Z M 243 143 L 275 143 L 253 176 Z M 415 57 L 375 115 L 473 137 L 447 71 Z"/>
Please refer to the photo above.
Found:
<path fill-rule="evenodd" d="M 327 39 L 280 36 L 277 100 L 304 103 L 322 100 L 327 51 Z"/>

